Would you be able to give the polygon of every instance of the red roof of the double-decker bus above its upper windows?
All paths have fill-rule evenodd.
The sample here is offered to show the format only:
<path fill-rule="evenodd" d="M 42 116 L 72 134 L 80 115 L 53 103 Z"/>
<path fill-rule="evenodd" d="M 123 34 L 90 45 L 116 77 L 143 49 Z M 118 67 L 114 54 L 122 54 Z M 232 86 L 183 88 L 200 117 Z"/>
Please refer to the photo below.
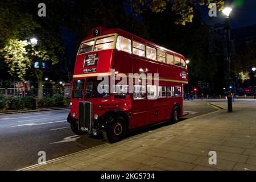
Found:
<path fill-rule="evenodd" d="M 104 28 L 104 27 L 93 28 L 92 29 L 92 34 L 90 34 L 89 36 L 86 36 L 86 38 L 82 39 L 82 42 L 84 42 L 85 40 L 88 40 L 88 39 L 97 38 L 98 36 L 93 36 L 93 30 L 97 30 L 99 28 L 101 30 L 101 33 L 98 36 L 108 35 L 108 34 L 122 35 L 122 36 L 125 36 L 126 38 L 135 39 L 138 42 L 145 43 L 145 44 L 147 44 L 147 46 L 152 46 L 152 47 L 155 47 L 155 48 L 162 49 L 162 50 L 164 50 L 164 51 L 166 51 L 168 53 L 172 53 L 173 55 L 179 56 L 179 57 L 181 57 L 182 59 L 185 60 L 185 57 L 183 55 L 181 55 L 180 53 L 177 53 L 175 51 L 171 51 L 170 49 L 167 49 L 165 47 L 159 46 L 158 44 L 152 43 L 152 42 L 150 42 L 150 41 L 148 41 L 146 39 L 140 38 L 137 35 L 131 34 L 131 33 L 127 32 L 127 31 L 121 30 L 119 28 L 109 28 L 109 29 Z"/>

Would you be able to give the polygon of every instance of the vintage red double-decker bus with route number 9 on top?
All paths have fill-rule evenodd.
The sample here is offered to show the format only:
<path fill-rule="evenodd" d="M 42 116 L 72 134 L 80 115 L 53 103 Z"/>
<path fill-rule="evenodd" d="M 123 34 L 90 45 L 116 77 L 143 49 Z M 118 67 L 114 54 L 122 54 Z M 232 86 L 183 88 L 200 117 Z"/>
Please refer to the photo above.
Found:
<path fill-rule="evenodd" d="M 118 85 L 128 75 L 131 82 Z M 102 77 L 115 86 L 102 86 Z M 67 120 L 75 134 L 117 142 L 137 127 L 179 121 L 184 84 L 183 55 L 120 29 L 94 28 L 77 52 Z"/>

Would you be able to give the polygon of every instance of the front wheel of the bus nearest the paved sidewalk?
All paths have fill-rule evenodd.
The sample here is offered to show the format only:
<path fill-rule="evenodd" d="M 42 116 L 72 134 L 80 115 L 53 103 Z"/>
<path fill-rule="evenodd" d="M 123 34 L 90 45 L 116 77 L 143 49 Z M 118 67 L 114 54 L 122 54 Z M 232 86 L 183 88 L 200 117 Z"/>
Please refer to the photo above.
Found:
<path fill-rule="evenodd" d="M 122 117 L 112 117 L 108 122 L 106 130 L 102 132 L 105 140 L 109 143 L 119 142 L 125 136 L 125 119 Z"/>

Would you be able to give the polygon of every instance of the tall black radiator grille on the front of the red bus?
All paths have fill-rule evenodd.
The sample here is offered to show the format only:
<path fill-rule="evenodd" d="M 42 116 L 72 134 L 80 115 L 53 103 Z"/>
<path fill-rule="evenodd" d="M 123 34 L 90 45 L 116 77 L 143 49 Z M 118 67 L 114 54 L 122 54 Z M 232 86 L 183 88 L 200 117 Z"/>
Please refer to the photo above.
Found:
<path fill-rule="evenodd" d="M 78 128 L 81 131 L 90 131 L 92 121 L 92 103 L 88 101 L 79 102 Z"/>

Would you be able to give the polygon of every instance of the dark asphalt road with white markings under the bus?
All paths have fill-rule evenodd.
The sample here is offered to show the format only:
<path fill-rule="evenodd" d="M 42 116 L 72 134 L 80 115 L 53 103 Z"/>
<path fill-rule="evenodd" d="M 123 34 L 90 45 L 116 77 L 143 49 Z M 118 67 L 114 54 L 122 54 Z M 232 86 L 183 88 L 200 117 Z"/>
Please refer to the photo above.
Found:
<path fill-rule="evenodd" d="M 184 101 L 184 111 L 189 113 L 184 119 L 214 110 L 214 107 L 207 105 L 207 101 Z M 38 164 L 39 151 L 45 151 L 46 160 L 51 160 L 106 143 L 101 138 L 73 134 L 66 121 L 68 113 L 69 109 L 1 114 L 0 170 L 16 170 Z M 129 136 L 136 134 L 138 131 Z"/>

